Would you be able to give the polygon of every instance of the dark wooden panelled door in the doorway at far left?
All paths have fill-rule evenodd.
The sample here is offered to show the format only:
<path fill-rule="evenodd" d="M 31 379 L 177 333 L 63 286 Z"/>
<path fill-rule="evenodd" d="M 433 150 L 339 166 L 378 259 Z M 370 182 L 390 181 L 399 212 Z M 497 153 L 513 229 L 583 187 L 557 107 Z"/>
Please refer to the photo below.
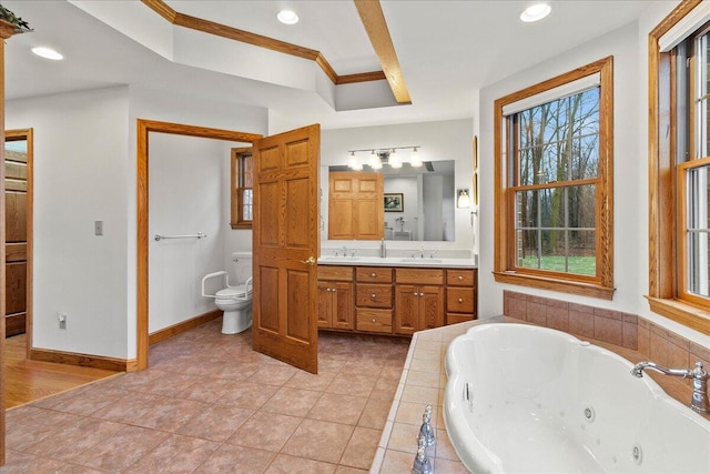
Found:
<path fill-rule="evenodd" d="M 4 150 L 6 336 L 26 332 L 28 313 L 27 134 L 8 131 Z"/>

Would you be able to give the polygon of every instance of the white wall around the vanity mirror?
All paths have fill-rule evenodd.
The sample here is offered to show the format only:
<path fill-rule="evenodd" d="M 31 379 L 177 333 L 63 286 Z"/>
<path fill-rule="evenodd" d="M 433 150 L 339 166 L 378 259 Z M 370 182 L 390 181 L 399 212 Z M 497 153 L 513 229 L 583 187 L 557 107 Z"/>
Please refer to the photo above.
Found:
<path fill-rule="evenodd" d="M 321 132 L 321 165 L 347 164 L 347 150 L 371 148 L 422 145 L 419 154 L 423 160 L 440 161 L 455 160 L 456 188 L 470 188 L 473 178 L 471 167 L 471 140 L 473 120 L 447 120 L 439 122 L 403 123 L 384 127 L 362 127 L 352 129 L 322 130 Z M 321 189 L 324 198 L 322 201 L 322 216 L 325 221 L 325 233 L 322 234 L 324 243 L 332 246 L 341 246 L 343 241 L 325 241 L 327 238 L 327 172 L 321 173 Z M 452 189 L 452 195 L 455 190 Z M 452 198 L 453 199 L 453 198 Z M 408 204 L 405 204 L 408 205 Z M 405 212 L 406 212 L 405 208 Z M 456 211 L 456 240 L 452 242 L 427 242 L 427 249 L 474 249 L 474 231 L 470 226 L 470 209 L 457 209 Z M 386 220 L 394 220 L 386 213 Z M 361 249 L 376 249 L 378 242 L 344 242 L 348 246 Z M 420 243 L 420 242 L 419 242 Z M 418 248 L 419 243 L 415 246 Z M 392 249 L 410 249 L 412 243 L 388 242 Z"/>

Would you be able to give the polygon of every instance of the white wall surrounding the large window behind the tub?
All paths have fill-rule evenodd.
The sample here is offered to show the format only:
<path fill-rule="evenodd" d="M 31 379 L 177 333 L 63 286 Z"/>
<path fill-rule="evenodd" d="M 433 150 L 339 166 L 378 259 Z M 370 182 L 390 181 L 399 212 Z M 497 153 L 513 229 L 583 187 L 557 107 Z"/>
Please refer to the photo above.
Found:
<path fill-rule="evenodd" d="M 656 22 L 662 18 L 656 14 Z M 480 91 L 480 256 L 479 314 L 503 313 L 503 291 L 513 290 L 570 302 L 608 307 L 649 316 L 648 303 L 648 142 L 646 123 L 647 73 L 641 60 L 647 52 L 647 34 L 656 26 L 630 23 L 592 42 L 537 64 Z M 510 92 L 613 56 L 613 252 L 612 301 L 575 296 L 497 283 L 494 266 L 494 101 Z M 707 336 L 658 315 L 649 319 L 707 345 Z"/>

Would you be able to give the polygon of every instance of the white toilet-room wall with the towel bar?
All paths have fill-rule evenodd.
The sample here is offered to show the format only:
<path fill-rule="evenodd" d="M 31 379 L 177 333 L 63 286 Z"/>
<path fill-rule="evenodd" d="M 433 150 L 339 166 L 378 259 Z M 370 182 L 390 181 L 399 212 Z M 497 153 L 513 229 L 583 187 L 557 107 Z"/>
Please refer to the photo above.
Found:
<path fill-rule="evenodd" d="M 224 269 L 223 162 L 219 140 L 151 133 L 149 137 L 149 235 L 205 239 L 150 240 L 149 333 L 213 310 L 201 295 L 202 278 Z M 229 184 L 227 184 L 229 185 Z M 229 193 L 227 193 L 229 196 Z M 217 282 L 214 282 L 217 283 Z"/>

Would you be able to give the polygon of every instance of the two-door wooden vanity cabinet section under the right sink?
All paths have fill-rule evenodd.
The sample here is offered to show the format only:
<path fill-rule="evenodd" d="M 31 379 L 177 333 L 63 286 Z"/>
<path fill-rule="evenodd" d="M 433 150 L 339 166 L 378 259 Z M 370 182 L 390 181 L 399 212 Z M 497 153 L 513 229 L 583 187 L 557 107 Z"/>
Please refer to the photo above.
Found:
<path fill-rule="evenodd" d="M 444 270 L 395 270 L 395 334 L 444 325 Z"/>

